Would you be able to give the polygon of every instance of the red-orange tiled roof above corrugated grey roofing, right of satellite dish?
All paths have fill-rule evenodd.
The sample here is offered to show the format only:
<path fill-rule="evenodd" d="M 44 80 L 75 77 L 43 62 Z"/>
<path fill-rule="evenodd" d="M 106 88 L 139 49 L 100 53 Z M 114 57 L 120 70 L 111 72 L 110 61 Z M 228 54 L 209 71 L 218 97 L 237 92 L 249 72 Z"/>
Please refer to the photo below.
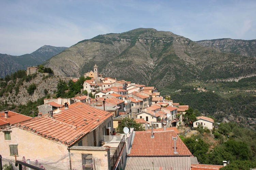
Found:
<path fill-rule="evenodd" d="M 174 153 L 174 140 L 177 137 L 176 151 Z M 161 143 L 161 145 L 160 145 Z M 129 156 L 174 156 L 174 155 L 192 155 L 186 145 L 177 136 L 175 131 L 157 131 L 154 132 L 154 138 L 151 138 L 151 132 L 135 132 L 131 153 Z"/>

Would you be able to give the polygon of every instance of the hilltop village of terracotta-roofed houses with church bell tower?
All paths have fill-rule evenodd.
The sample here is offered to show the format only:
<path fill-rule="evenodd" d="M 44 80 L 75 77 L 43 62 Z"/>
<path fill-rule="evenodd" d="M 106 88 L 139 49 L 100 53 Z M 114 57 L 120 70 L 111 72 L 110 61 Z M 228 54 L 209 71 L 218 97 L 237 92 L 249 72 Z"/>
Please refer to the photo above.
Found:
<path fill-rule="evenodd" d="M 188 105 L 165 99 L 153 86 L 103 77 L 97 65 L 84 76 L 91 80 L 84 82 L 81 92 L 86 90 L 95 98 L 44 99 L 34 118 L 0 112 L 2 157 L 21 160 L 23 156 L 31 164 L 40 160 L 46 169 L 223 167 L 199 164 L 179 138 Z M 126 118 L 141 124 L 144 131 L 126 126 L 123 133 L 117 133 Z M 213 120 L 204 116 L 193 123 L 213 128 Z"/>

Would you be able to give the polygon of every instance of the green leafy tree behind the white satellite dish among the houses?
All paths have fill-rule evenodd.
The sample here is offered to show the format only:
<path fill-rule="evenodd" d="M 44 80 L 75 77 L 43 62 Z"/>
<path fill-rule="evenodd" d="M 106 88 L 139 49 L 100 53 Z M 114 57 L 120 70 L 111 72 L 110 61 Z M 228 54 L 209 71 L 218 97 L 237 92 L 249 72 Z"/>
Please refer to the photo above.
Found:
<path fill-rule="evenodd" d="M 116 128 L 117 133 L 124 133 L 123 128 L 134 128 L 134 131 L 145 131 L 145 128 L 141 123 L 136 123 L 134 119 L 130 119 L 129 117 L 124 118 L 121 123 Z"/>

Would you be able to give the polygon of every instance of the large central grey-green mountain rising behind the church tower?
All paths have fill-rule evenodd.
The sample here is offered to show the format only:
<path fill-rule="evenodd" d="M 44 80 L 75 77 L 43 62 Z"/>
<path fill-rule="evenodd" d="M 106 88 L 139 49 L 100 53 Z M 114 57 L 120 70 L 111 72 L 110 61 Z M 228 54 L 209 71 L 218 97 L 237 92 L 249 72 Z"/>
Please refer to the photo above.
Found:
<path fill-rule="evenodd" d="M 172 32 L 140 28 L 82 40 L 44 65 L 52 68 L 55 75 L 79 77 L 97 64 L 107 77 L 168 88 L 195 79 L 253 75 L 255 60 L 204 47 Z"/>

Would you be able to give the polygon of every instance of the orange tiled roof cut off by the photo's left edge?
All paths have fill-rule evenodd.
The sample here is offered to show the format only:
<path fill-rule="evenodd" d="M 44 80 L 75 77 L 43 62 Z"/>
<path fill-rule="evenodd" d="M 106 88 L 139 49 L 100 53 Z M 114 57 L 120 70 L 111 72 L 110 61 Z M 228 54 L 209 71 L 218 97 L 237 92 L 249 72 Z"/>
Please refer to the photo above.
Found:
<path fill-rule="evenodd" d="M 0 112 L 0 125 L 4 124 L 15 124 L 18 122 L 26 121 L 29 119 L 32 119 L 32 117 L 26 116 L 26 115 L 21 115 L 19 113 L 15 113 L 12 111 L 7 111 L 8 112 L 8 117 L 5 118 L 5 113 Z"/>

